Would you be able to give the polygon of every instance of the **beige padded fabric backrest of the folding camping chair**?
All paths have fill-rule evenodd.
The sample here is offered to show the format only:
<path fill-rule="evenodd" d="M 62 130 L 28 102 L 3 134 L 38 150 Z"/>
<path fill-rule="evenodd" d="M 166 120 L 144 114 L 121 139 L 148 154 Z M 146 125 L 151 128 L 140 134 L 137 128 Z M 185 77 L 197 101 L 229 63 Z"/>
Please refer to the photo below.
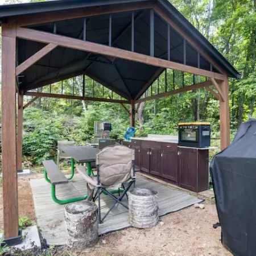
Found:
<path fill-rule="evenodd" d="M 133 176 L 134 150 L 115 144 L 98 152 L 96 164 L 100 183 L 104 186 L 122 184 Z"/>

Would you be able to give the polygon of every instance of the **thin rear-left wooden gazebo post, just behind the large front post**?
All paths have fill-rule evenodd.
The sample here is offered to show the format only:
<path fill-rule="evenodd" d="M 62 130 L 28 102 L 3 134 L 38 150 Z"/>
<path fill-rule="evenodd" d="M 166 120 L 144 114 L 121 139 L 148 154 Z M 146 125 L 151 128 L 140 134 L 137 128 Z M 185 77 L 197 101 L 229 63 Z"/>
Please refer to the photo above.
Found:
<path fill-rule="evenodd" d="M 22 170 L 23 90 L 18 92 L 17 168 Z"/>

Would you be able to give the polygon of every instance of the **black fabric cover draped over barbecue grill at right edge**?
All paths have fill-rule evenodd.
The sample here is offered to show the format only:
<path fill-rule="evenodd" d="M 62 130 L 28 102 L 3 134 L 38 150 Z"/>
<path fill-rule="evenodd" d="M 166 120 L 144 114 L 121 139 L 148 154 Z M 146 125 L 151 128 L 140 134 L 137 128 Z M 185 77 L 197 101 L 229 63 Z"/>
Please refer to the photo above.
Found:
<path fill-rule="evenodd" d="M 256 256 L 256 120 L 243 123 L 214 156 L 210 176 L 222 244 L 236 256 Z"/>

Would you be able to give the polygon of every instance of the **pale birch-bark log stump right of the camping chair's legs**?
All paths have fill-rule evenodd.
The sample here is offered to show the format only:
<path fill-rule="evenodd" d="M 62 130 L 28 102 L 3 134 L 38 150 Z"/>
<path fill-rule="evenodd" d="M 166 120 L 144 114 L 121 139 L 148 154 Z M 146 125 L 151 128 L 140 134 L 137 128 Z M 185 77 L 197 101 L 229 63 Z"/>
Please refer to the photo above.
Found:
<path fill-rule="evenodd" d="M 133 188 L 129 195 L 129 222 L 135 228 L 152 228 L 158 223 L 158 192 Z"/>

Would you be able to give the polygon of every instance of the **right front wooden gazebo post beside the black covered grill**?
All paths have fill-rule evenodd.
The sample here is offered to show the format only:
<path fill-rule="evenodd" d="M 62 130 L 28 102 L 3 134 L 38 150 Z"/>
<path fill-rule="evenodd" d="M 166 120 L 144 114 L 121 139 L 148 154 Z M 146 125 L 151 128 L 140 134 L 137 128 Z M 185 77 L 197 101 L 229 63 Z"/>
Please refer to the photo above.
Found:
<path fill-rule="evenodd" d="M 229 122 L 229 79 L 225 76 L 225 80 L 221 82 L 221 91 L 224 101 L 220 97 L 220 137 L 221 150 L 230 145 L 230 122 Z"/>

